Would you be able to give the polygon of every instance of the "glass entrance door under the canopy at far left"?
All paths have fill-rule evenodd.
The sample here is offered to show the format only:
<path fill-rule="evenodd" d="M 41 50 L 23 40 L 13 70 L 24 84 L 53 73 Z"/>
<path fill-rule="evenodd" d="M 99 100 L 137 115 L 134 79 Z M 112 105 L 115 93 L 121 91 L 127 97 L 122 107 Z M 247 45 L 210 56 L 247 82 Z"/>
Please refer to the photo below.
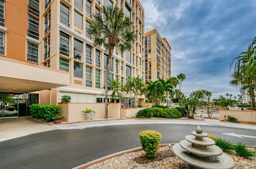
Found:
<path fill-rule="evenodd" d="M 17 117 L 19 102 L 18 95 L 15 96 L 1 96 L 1 112 L 0 117 Z"/>

